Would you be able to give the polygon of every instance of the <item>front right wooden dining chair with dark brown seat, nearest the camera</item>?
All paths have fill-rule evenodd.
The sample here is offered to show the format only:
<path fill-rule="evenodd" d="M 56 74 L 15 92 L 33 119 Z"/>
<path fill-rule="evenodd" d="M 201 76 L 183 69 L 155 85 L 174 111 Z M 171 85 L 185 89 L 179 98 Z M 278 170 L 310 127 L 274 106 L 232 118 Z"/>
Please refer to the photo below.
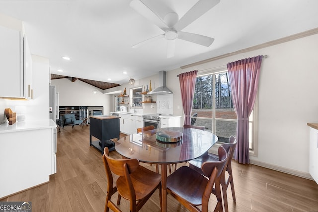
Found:
<path fill-rule="evenodd" d="M 167 192 L 191 212 L 208 212 L 209 199 L 214 190 L 213 194 L 217 198 L 214 211 L 223 212 L 220 178 L 227 159 L 223 147 L 219 147 L 219 155 L 219 161 L 202 164 L 202 171 L 208 178 L 188 166 L 173 172 L 167 178 Z"/>

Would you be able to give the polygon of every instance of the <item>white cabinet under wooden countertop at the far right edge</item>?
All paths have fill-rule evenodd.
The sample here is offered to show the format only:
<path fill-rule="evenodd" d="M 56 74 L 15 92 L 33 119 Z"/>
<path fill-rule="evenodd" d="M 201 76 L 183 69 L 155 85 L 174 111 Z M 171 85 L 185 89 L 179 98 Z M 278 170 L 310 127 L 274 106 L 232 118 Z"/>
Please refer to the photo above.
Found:
<path fill-rule="evenodd" d="M 309 173 L 318 183 L 318 130 L 309 128 Z"/>

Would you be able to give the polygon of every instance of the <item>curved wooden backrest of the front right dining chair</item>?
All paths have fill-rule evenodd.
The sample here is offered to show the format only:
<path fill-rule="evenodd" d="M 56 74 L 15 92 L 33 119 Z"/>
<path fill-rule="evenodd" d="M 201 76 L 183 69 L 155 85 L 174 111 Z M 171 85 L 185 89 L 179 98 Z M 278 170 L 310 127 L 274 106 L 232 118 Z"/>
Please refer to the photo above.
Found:
<path fill-rule="evenodd" d="M 202 163 L 202 171 L 205 176 L 211 176 L 214 168 L 217 168 L 216 177 L 219 177 L 224 169 L 224 166 L 227 162 L 227 151 L 224 149 L 224 147 L 220 146 L 218 148 L 218 154 L 219 154 L 219 161 L 206 161 Z"/>

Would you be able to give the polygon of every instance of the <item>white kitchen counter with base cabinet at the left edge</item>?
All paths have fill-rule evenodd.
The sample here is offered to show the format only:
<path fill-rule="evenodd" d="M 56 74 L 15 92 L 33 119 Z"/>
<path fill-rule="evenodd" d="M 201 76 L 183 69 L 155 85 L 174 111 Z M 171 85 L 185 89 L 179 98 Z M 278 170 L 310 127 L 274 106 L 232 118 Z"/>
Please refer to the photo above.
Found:
<path fill-rule="evenodd" d="M 0 125 L 0 199 L 48 182 L 56 173 L 51 119 Z"/>

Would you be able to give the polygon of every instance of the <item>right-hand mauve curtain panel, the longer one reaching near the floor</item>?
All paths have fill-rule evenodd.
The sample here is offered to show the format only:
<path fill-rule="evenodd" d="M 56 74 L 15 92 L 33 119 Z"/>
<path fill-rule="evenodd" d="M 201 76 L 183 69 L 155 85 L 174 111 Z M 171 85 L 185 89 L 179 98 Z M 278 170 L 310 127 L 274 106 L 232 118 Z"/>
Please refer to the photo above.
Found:
<path fill-rule="evenodd" d="M 263 56 L 227 64 L 232 100 L 238 116 L 237 147 L 234 159 L 249 164 L 249 116 L 253 110 Z"/>

